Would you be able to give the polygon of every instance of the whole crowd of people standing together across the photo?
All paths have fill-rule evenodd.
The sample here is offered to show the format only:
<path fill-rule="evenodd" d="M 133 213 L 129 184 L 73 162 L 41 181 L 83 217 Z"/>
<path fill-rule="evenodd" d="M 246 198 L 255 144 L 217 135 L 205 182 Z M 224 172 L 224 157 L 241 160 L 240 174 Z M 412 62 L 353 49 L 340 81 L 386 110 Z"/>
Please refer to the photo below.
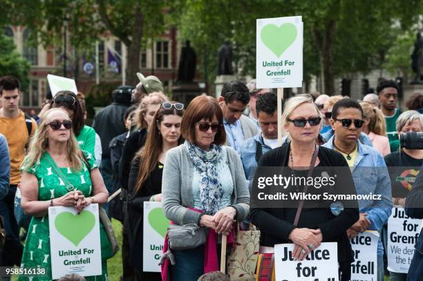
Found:
<path fill-rule="evenodd" d="M 1 267 L 41 265 L 46 279 L 32 280 L 51 280 L 48 208 L 69 206 L 79 213 L 97 203 L 122 222 L 122 280 L 198 280 L 218 271 L 221 235 L 234 235 L 235 223 L 261 231 L 263 253 L 294 243 L 298 260 L 322 242 L 337 242 L 339 280 L 351 277 L 350 239 L 378 231 L 377 280 L 384 280 L 388 217 L 393 206 L 406 206 L 413 186 L 423 184 L 416 180 L 423 173 L 408 178 L 407 186 L 393 180 L 423 164 L 423 150 L 404 148 L 399 138 L 423 132 L 422 94 L 413 95 L 404 112 L 392 80 L 380 81 L 377 94 L 359 101 L 294 95 L 285 101 L 278 124 L 276 94 L 256 88 L 255 80 L 225 84 L 218 99 L 201 95 L 181 104 L 164 94 L 157 77 L 138 73 L 138 78 L 135 88 L 113 91 L 113 102 L 92 127 L 86 125 L 83 93 L 64 90 L 48 97 L 35 121 L 19 108 L 19 80 L 0 78 L 0 215 L 6 230 Z M 250 208 L 257 169 L 272 166 L 309 176 L 315 167 L 346 167 L 349 176 L 336 187 L 344 189 L 339 193 L 373 193 L 381 200 L 337 211 L 302 203 L 297 209 Z M 397 174 L 388 170 L 393 166 L 400 167 Z M 207 229 L 205 242 L 170 249 L 172 261 L 164 267 L 169 270 L 161 274 L 143 271 L 144 202 L 162 202 L 172 224 Z M 102 274 L 86 280 L 107 280 L 113 249 L 105 227 L 100 223 Z M 391 280 L 419 280 L 422 259 L 415 251 L 408 276 L 391 272 Z"/>

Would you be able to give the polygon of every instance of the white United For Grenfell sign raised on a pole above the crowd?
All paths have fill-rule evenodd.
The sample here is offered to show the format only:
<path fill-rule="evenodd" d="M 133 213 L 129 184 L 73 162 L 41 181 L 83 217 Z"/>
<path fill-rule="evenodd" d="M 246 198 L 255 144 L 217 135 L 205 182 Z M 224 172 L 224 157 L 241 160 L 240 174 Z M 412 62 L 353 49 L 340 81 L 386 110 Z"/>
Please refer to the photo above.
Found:
<path fill-rule="evenodd" d="M 256 20 L 257 88 L 303 84 L 302 17 Z"/>

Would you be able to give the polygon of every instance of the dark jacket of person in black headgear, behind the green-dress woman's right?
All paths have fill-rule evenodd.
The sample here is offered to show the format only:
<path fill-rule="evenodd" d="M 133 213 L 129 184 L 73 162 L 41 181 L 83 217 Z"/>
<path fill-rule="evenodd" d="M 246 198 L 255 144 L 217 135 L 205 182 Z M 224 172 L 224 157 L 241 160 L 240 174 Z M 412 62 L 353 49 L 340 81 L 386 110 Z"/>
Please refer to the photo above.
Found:
<path fill-rule="evenodd" d="M 125 133 L 124 115 L 128 109 L 125 104 L 113 102 L 101 110 L 94 119 L 93 128 L 102 140 L 102 157 L 110 158 L 109 144 L 113 137 Z"/>

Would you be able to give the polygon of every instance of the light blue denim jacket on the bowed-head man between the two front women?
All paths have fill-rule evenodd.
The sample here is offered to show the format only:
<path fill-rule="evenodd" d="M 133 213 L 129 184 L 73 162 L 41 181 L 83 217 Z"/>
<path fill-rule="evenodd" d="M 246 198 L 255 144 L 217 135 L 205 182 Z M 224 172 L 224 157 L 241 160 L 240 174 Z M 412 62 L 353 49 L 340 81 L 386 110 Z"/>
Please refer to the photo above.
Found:
<path fill-rule="evenodd" d="M 263 135 L 261 133 L 255 135 L 254 137 L 250 137 L 250 139 L 245 139 L 245 141 L 241 145 L 241 161 L 243 162 L 245 178 L 247 179 L 248 186 L 250 186 L 250 180 L 252 180 L 252 178 L 254 177 L 254 173 L 256 172 L 257 168 L 257 142 L 261 144 L 262 155 L 267 153 L 267 151 L 272 150 L 270 146 L 267 146 L 264 143 Z"/>

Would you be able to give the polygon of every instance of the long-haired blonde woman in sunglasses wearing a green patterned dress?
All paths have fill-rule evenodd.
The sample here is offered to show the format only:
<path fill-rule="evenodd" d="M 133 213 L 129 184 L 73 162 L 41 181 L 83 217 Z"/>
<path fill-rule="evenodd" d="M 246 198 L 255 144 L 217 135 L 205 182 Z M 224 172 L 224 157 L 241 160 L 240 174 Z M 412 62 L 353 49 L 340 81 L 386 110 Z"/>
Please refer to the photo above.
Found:
<path fill-rule="evenodd" d="M 71 128 L 66 111 L 46 111 L 21 166 L 21 206 L 32 216 L 21 264 L 46 269 L 45 276 L 34 280 L 52 280 L 48 207 L 68 206 L 80 213 L 89 204 L 106 203 L 109 196 L 93 155 L 80 150 Z M 102 257 L 111 256 L 111 244 L 101 223 L 100 241 Z M 105 258 L 102 275 L 86 280 L 107 280 Z"/>

